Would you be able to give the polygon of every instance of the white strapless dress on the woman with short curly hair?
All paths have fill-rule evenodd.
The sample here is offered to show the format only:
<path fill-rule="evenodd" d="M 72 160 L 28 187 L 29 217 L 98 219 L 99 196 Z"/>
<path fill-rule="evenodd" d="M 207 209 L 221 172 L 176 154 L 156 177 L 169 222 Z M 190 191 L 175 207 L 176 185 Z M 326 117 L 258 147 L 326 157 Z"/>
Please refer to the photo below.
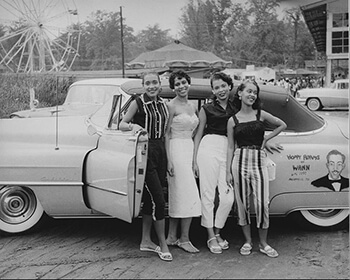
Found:
<path fill-rule="evenodd" d="M 198 126 L 197 115 L 182 113 L 173 118 L 169 153 L 174 176 L 168 176 L 169 216 L 189 218 L 201 215 L 199 190 L 192 171 L 193 131 Z"/>

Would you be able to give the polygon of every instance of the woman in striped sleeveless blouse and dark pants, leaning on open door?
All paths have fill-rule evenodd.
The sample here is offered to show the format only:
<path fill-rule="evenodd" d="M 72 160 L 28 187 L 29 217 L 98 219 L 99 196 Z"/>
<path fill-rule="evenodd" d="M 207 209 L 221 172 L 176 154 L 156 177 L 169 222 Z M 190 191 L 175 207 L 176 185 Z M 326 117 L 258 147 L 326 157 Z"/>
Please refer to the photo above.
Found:
<path fill-rule="evenodd" d="M 165 101 L 158 96 L 161 90 L 157 73 L 142 77 L 145 93 L 136 97 L 120 123 L 121 130 L 137 131 L 143 128 L 148 133 L 148 159 L 143 192 L 141 251 L 151 251 L 164 261 L 171 261 L 165 238 L 165 197 L 167 155 L 165 131 L 169 118 Z M 133 123 L 131 123 L 131 121 Z M 152 223 L 158 236 L 159 246 L 151 240 Z"/>

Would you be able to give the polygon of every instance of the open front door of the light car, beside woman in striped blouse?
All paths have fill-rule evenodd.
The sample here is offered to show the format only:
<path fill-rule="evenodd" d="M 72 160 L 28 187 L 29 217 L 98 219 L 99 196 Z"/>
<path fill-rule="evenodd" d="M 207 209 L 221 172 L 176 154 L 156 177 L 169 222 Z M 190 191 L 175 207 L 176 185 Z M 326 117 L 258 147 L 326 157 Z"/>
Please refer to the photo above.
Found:
<path fill-rule="evenodd" d="M 121 98 L 113 102 L 109 125 L 87 156 L 85 200 L 95 211 L 131 222 L 141 208 L 148 137 L 143 131 L 133 134 L 112 128 L 111 119 L 120 102 Z"/>

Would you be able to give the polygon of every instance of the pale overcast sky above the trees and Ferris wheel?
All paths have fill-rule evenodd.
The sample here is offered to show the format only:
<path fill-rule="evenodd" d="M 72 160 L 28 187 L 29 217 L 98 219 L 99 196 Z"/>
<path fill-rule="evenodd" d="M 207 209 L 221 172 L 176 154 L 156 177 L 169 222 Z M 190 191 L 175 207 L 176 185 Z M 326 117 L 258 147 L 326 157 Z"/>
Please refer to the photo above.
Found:
<path fill-rule="evenodd" d="M 4 23 L 5 19 L 15 16 L 15 13 L 11 11 L 12 1 L 22 3 L 22 5 L 23 3 L 28 4 L 28 1 L 30 1 L 29 3 L 35 3 L 36 6 L 44 5 L 45 1 L 48 3 L 55 2 L 58 3 L 58 6 L 61 6 L 60 9 L 63 9 L 64 5 L 68 5 L 68 7 L 78 10 L 78 16 L 75 17 L 75 20 L 80 22 L 86 21 L 97 10 L 119 12 L 120 7 L 122 7 L 124 24 L 132 27 L 135 34 L 148 26 L 159 24 L 160 29 L 169 29 L 169 35 L 175 39 L 180 37 L 179 18 L 182 15 L 182 8 L 188 3 L 188 0 L 0 0 L 0 23 Z M 278 12 L 281 13 L 287 7 L 298 7 L 317 1 L 319 0 L 283 0 Z M 245 3 L 246 0 L 235 0 L 235 2 Z M 60 12 L 57 9 L 57 14 Z M 64 19 L 62 18 L 60 23 L 56 24 L 60 25 L 63 22 Z M 8 23 L 8 21 L 5 23 Z"/>

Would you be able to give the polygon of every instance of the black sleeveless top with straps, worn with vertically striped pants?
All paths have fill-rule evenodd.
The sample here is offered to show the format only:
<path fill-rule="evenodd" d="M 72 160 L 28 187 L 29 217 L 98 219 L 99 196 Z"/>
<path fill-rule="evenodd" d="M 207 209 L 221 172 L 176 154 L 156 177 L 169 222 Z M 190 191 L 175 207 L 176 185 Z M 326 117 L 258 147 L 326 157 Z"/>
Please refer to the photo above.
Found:
<path fill-rule="evenodd" d="M 260 110 L 256 114 L 256 120 L 240 123 L 236 115 L 232 116 L 235 127 L 233 129 L 234 139 L 237 141 L 238 148 L 242 146 L 259 146 L 264 141 L 265 126 L 260 120 Z"/>

